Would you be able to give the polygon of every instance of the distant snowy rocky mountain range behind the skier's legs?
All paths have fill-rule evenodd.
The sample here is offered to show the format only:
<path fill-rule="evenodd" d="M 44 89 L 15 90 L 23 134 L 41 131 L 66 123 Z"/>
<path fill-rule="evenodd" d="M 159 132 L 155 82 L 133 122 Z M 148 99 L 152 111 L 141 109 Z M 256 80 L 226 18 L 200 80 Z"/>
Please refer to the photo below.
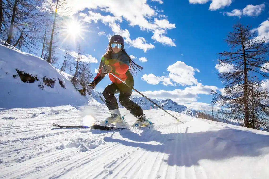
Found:
<path fill-rule="evenodd" d="M 102 93 L 95 91 L 92 92 L 93 98 L 99 103 L 104 104 L 104 102 L 101 100 L 100 96 L 97 93 L 104 99 Z M 119 108 L 123 108 L 123 106 L 119 103 L 119 95 L 116 94 L 115 96 L 118 101 Z M 154 105 L 144 97 L 131 96 L 130 99 L 135 103 L 137 103 L 142 109 L 158 109 L 156 105 Z M 161 101 L 158 101 L 156 99 L 151 100 L 154 101 L 156 104 L 158 104 L 160 107 L 164 108 L 165 110 L 175 111 L 179 113 L 182 112 L 183 114 L 187 114 L 190 116 L 197 116 L 196 111 L 188 109 L 186 106 L 180 105 L 171 99 L 165 99 Z"/>

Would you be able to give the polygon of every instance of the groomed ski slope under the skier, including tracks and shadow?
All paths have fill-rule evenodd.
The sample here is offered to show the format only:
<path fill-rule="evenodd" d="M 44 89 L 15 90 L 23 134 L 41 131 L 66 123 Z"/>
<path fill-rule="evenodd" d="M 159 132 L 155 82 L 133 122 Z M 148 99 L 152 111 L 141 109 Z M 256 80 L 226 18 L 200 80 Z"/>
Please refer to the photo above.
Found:
<path fill-rule="evenodd" d="M 155 129 L 51 125 L 91 124 L 89 115 L 98 123 L 108 115 L 104 105 L 1 110 L 0 178 L 269 178 L 269 133 L 169 111 L 185 122 L 180 124 L 162 110 L 144 111 Z"/>

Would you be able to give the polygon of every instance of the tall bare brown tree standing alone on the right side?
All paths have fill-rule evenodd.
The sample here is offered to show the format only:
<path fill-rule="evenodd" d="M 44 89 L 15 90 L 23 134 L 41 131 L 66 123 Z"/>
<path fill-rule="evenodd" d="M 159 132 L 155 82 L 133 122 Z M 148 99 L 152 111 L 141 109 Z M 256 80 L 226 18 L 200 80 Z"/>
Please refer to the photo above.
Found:
<path fill-rule="evenodd" d="M 212 102 L 219 102 L 221 107 L 229 109 L 229 112 L 225 112 L 226 116 L 229 113 L 231 118 L 243 120 L 245 127 L 255 128 L 253 122 L 250 122 L 251 97 L 259 111 L 265 116 L 269 115 L 268 92 L 261 88 L 261 81 L 269 77 L 266 59 L 269 50 L 267 38 L 260 39 L 250 27 L 238 23 L 225 41 L 231 47 L 231 51 L 219 53 L 219 62 L 222 66 L 233 68 L 218 74 L 224 84 L 224 93 L 212 91 Z M 260 76 L 253 86 L 250 72 Z M 255 95 L 251 95 L 251 89 Z"/>

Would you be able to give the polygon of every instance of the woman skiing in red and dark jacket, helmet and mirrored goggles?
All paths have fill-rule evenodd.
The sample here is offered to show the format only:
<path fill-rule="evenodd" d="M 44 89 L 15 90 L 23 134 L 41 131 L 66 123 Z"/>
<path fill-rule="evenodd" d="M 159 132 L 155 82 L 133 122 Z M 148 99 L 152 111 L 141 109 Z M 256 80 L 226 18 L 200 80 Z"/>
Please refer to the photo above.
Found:
<path fill-rule="evenodd" d="M 108 51 L 104 54 L 101 59 L 98 74 L 95 76 L 93 82 L 89 84 L 90 89 L 94 89 L 95 86 L 105 77 L 106 74 L 112 73 L 122 81 L 125 81 L 129 86 L 134 86 L 134 79 L 131 74 L 134 69 L 142 70 L 143 67 L 134 63 L 130 56 L 124 49 L 124 40 L 120 35 L 113 35 L 109 41 Z M 130 72 L 131 71 L 131 72 Z M 104 123 L 122 123 L 121 113 L 115 97 L 115 94 L 119 93 L 119 102 L 130 113 L 137 118 L 135 125 L 142 126 L 148 125 L 145 114 L 141 107 L 130 100 L 132 94 L 132 88 L 129 88 L 120 80 L 109 74 L 109 78 L 112 83 L 105 87 L 103 95 L 105 98 L 105 104 L 107 105 L 111 115 L 105 119 Z M 103 122 L 102 122 L 103 123 Z"/>

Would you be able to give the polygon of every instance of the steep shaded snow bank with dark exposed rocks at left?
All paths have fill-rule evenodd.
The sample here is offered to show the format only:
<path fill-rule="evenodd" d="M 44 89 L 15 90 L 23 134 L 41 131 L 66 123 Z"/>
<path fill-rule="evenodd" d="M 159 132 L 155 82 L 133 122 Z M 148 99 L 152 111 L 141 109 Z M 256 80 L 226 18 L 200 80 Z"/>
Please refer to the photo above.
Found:
<path fill-rule="evenodd" d="M 14 47 L 3 46 L 3 43 L 3 41 L 0 42 L 0 108 L 51 107 L 89 103 L 88 99 L 91 97 L 83 97 L 75 90 L 70 82 L 71 75 L 64 72 L 60 74 L 59 70 L 47 61 L 21 52 Z M 34 78 L 30 83 L 23 82 L 19 72 L 25 72 Z M 28 80 L 29 77 L 26 76 L 26 78 Z M 52 79 L 55 82 L 47 86 L 47 81 L 43 78 Z"/>

